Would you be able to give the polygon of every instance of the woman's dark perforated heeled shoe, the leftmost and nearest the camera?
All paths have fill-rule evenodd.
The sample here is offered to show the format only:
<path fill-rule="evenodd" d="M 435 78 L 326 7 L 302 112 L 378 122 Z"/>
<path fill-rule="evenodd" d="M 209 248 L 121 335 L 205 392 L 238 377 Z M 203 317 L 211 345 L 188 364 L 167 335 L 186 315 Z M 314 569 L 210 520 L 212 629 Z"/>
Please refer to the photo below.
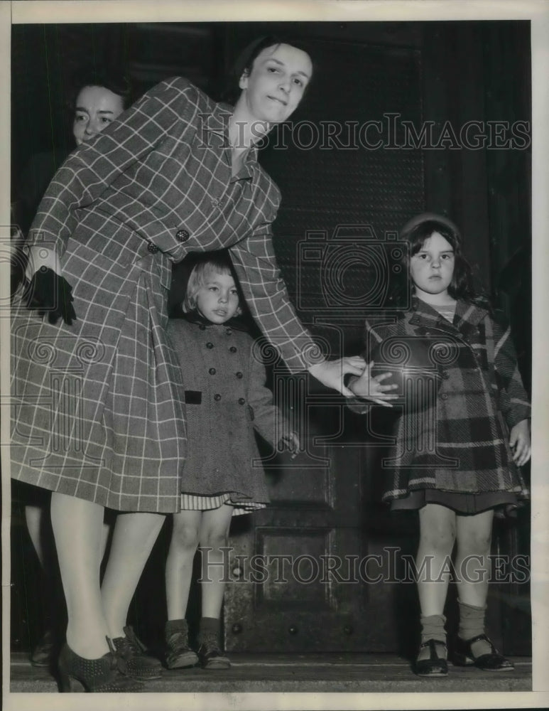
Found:
<path fill-rule="evenodd" d="M 112 649 L 98 659 L 85 659 L 65 644 L 59 661 L 59 686 L 62 692 L 133 693 L 143 690 L 143 684 L 119 670 L 116 653 Z"/>

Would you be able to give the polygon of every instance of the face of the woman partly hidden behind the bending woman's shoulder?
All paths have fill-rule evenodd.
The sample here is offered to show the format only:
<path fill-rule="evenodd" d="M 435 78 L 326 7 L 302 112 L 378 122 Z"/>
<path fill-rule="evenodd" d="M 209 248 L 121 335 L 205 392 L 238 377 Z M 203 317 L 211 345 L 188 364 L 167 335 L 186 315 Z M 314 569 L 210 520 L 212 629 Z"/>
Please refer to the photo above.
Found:
<path fill-rule="evenodd" d="M 77 146 L 89 141 L 124 111 L 122 97 L 106 87 L 84 87 L 76 98 L 72 135 Z"/>

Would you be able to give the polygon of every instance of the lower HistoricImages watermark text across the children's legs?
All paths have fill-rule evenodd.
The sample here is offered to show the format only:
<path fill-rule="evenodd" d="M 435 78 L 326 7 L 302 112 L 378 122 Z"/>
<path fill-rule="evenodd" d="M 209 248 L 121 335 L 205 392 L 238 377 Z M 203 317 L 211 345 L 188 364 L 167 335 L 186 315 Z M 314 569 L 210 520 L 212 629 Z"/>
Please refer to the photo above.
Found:
<path fill-rule="evenodd" d="M 201 549 L 208 556 L 211 548 Z M 528 555 L 469 555 L 459 565 L 446 556 L 442 562 L 426 556 L 420 567 L 412 555 L 398 547 L 384 547 L 382 554 L 359 555 L 237 555 L 232 547 L 222 547 L 223 560 L 202 569 L 199 582 L 211 582 L 213 571 L 223 582 L 252 584 L 416 584 L 420 582 L 489 582 L 525 584 L 530 579 Z"/>

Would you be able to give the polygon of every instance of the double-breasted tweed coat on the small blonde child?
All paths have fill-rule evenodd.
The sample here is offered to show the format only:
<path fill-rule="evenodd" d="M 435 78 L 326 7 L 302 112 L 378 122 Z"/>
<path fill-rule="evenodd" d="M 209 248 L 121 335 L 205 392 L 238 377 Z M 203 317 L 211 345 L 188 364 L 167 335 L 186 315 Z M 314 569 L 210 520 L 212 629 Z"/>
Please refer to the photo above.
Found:
<path fill-rule="evenodd" d="M 238 322 L 198 316 L 170 319 L 168 336 L 185 386 L 185 493 L 232 493 L 234 501 L 269 501 L 254 430 L 274 446 L 290 431 L 265 387 L 259 348 Z"/>

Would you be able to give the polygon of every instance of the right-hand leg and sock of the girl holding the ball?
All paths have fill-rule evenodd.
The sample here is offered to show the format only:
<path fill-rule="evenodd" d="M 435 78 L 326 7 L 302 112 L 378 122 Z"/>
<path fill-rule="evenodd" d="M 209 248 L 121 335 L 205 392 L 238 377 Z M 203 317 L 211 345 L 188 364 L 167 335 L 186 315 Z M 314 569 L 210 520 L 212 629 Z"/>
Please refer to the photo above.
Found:
<path fill-rule="evenodd" d="M 457 595 L 460 602 L 462 639 L 484 633 L 484 611 L 490 573 L 489 553 L 494 511 L 475 515 L 457 515 Z M 490 653 L 491 648 L 479 640 L 472 645 L 475 656 Z"/>

